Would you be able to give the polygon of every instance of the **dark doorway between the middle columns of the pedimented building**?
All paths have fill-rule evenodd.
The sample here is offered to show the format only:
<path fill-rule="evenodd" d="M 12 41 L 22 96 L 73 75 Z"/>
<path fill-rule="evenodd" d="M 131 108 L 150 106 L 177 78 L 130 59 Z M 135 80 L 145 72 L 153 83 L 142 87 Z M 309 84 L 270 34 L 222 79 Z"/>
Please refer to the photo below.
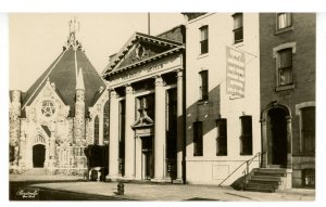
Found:
<path fill-rule="evenodd" d="M 141 138 L 141 152 L 142 152 L 142 179 L 150 180 L 153 178 L 153 141 L 152 137 L 142 137 Z"/>

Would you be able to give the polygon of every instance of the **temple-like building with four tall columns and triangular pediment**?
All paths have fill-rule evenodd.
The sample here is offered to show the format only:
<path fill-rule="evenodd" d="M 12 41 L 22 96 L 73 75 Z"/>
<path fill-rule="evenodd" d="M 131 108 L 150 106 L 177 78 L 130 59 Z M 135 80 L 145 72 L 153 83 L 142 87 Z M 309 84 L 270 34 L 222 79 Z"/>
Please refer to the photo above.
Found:
<path fill-rule="evenodd" d="M 183 182 L 184 43 L 184 26 L 135 33 L 111 55 L 109 180 Z"/>

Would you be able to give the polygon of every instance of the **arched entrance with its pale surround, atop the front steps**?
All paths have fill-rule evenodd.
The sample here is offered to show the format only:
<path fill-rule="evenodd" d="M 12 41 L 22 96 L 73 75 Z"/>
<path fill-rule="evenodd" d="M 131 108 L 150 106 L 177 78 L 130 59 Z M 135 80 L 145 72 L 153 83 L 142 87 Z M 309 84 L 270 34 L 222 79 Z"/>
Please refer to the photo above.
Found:
<path fill-rule="evenodd" d="M 291 112 L 272 102 L 262 112 L 262 167 L 292 168 Z"/>

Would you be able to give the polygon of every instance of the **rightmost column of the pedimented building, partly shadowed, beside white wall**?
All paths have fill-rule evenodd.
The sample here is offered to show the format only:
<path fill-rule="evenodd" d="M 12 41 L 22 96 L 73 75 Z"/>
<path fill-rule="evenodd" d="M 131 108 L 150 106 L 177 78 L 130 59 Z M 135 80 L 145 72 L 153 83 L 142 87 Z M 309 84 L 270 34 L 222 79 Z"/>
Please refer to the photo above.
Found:
<path fill-rule="evenodd" d="M 184 161 L 184 70 L 177 72 L 177 181 L 183 182 Z"/>

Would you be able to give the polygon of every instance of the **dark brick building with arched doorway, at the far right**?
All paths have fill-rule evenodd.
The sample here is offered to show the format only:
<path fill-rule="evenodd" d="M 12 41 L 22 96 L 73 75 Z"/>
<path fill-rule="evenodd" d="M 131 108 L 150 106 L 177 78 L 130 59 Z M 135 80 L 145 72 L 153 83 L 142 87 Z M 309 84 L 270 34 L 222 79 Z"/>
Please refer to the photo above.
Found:
<path fill-rule="evenodd" d="M 263 166 L 315 185 L 316 15 L 260 14 Z"/>

